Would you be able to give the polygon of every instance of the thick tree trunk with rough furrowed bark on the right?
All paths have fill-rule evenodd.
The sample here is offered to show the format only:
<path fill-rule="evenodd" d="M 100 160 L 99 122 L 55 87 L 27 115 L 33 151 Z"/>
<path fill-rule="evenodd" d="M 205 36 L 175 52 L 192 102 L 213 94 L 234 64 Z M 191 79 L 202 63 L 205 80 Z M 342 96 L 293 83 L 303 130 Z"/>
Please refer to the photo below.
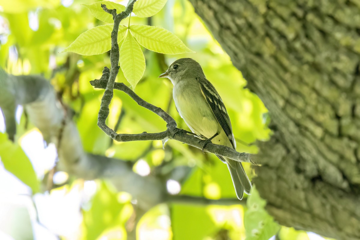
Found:
<path fill-rule="evenodd" d="M 269 213 L 360 239 L 359 1 L 190 1 L 269 109 L 254 179 Z"/>

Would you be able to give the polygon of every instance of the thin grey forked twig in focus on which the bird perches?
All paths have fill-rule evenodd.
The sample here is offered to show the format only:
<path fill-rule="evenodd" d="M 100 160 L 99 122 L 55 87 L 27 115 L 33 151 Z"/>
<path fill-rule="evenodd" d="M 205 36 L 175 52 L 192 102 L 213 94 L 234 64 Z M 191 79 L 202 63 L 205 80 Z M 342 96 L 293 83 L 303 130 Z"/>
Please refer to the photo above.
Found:
<path fill-rule="evenodd" d="M 124 142 L 124 141 L 143 141 L 143 140 L 167 140 L 174 139 L 177 141 L 184 142 L 188 145 L 194 146 L 195 148 L 202 149 L 208 153 L 214 153 L 221 155 L 223 157 L 228 157 L 238 162 L 251 162 L 256 164 L 255 160 L 251 157 L 251 154 L 248 153 L 238 153 L 236 150 L 228 148 L 222 145 L 216 145 L 208 143 L 204 145 L 197 137 L 188 135 L 188 132 L 182 129 L 177 128 L 176 121 L 169 114 L 159 107 L 156 107 L 147 101 L 140 98 L 134 91 L 127 87 L 124 83 L 115 83 L 116 76 L 119 72 L 119 45 L 117 43 L 117 33 L 119 30 L 120 21 L 126 18 L 131 14 L 134 3 L 136 0 L 130 0 L 126 9 L 116 14 L 116 10 L 107 9 L 107 7 L 102 4 L 102 8 L 105 12 L 112 14 L 114 19 L 114 28 L 111 32 L 111 52 L 110 52 L 110 62 L 111 70 L 104 67 L 103 74 L 99 80 L 90 81 L 90 84 L 96 88 L 105 89 L 103 98 L 100 104 L 100 110 L 98 115 L 98 126 L 102 129 L 108 136 L 112 139 Z M 109 116 L 109 105 L 113 98 L 113 90 L 117 89 L 125 92 L 129 95 L 136 103 L 141 107 L 144 107 L 161 117 L 166 123 L 167 130 L 157 133 L 139 133 L 139 134 L 117 134 L 114 130 L 109 128 L 105 121 Z"/>

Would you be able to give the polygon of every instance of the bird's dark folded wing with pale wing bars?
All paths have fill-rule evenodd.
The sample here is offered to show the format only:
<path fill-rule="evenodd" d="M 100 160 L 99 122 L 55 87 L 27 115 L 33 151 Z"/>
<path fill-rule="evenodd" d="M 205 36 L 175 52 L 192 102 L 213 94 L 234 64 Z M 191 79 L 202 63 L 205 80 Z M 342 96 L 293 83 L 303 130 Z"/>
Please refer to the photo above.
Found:
<path fill-rule="evenodd" d="M 231 127 L 230 118 L 224 103 L 222 102 L 220 95 L 217 93 L 215 87 L 204 77 L 197 78 L 200 85 L 200 89 L 207 103 L 210 105 L 212 112 L 214 113 L 220 126 L 228 136 L 231 145 L 235 149 L 235 140 L 233 136 L 233 128 Z"/>

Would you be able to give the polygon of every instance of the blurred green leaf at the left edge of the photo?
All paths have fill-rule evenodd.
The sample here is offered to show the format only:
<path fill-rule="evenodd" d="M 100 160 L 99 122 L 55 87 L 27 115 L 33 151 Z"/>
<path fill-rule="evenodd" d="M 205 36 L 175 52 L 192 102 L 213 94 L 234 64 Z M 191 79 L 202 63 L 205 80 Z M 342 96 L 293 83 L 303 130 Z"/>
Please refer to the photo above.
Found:
<path fill-rule="evenodd" d="M 8 140 L 0 132 L 0 157 L 7 171 L 14 174 L 24 184 L 31 187 L 33 193 L 39 192 L 40 186 L 29 158 L 18 144 Z"/>

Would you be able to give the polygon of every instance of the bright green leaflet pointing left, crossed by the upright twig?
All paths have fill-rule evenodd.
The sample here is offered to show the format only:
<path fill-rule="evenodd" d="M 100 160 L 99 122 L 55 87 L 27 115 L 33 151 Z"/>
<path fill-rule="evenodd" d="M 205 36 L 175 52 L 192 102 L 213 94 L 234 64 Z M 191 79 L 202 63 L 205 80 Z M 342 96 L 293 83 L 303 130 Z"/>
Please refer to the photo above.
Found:
<path fill-rule="evenodd" d="M 111 49 L 111 32 L 113 24 L 97 26 L 81 33 L 77 39 L 70 44 L 64 52 L 73 52 L 81 55 L 102 54 Z M 120 25 L 118 31 L 118 41 L 125 36 L 127 27 Z"/>

